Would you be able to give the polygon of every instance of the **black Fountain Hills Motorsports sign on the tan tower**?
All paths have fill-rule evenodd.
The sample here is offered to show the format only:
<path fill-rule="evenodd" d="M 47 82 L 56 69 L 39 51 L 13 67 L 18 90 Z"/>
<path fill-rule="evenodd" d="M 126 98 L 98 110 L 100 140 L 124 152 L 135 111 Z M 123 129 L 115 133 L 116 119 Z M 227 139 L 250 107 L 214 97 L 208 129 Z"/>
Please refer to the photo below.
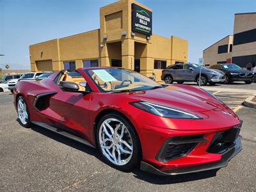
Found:
<path fill-rule="evenodd" d="M 132 31 L 152 35 L 152 12 L 132 3 Z"/>

